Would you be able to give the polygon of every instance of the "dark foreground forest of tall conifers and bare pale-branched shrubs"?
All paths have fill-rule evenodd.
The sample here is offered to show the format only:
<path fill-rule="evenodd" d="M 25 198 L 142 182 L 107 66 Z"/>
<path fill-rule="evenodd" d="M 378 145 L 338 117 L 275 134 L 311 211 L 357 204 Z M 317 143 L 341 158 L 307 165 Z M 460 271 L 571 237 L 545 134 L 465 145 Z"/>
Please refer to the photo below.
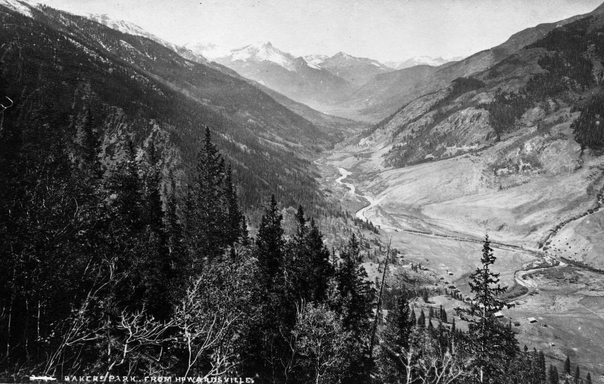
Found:
<path fill-rule="evenodd" d="M 427 293 L 368 282 L 358 239 L 330 252 L 302 207 L 284 233 L 271 198 L 251 238 L 209 129 L 194 177 L 177 187 L 162 180 L 153 143 L 124 143 L 121 160 L 104 165 L 91 120 L 83 109 L 62 131 L 30 122 L 2 132 L 5 380 L 559 382 L 494 315 L 506 288 L 488 238 L 461 331 L 452 313 L 412 310 Z M 384 319 L 382 295 L 393 302 Z"/>

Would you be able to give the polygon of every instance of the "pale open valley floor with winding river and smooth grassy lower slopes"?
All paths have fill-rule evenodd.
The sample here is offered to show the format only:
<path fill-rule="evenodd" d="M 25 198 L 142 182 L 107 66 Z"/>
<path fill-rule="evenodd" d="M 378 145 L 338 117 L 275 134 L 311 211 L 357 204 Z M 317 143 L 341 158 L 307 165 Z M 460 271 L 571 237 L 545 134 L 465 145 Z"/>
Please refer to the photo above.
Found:
<path fill-rule="evenodd" d="M 585 181 L 598 181 L 604 161 L 586 158 L 574 172 L 545 172 L 501 188 L 487 164 L 505 145 L 400 169 L 384 169 L 379 151 L 352 146 L 315 163 L 325 186 L 340 188 L 356 216 L 379 227 L 383 243 L 391 239 L 406 262 L 421 262 L 463 293 L 470 293 L 467 276 L 480 262 L 488 232 L 502 283 L 523 290 L 513 299 L 516 307 L 504 311 L 520 324 L 514 329 L 521 347 L 542 349 L 560 362 L 570 356 L 592 376 L 603 375 L 604 275 L 564 260 L 604 265 L 594 256 L 604 236 L 585 224 L 602 222 L 602 195 L 586 194 Z M 585 252 L 569 252 L 574 247 Z M 541 268 L 544 261 L 553 267 Z"/>

